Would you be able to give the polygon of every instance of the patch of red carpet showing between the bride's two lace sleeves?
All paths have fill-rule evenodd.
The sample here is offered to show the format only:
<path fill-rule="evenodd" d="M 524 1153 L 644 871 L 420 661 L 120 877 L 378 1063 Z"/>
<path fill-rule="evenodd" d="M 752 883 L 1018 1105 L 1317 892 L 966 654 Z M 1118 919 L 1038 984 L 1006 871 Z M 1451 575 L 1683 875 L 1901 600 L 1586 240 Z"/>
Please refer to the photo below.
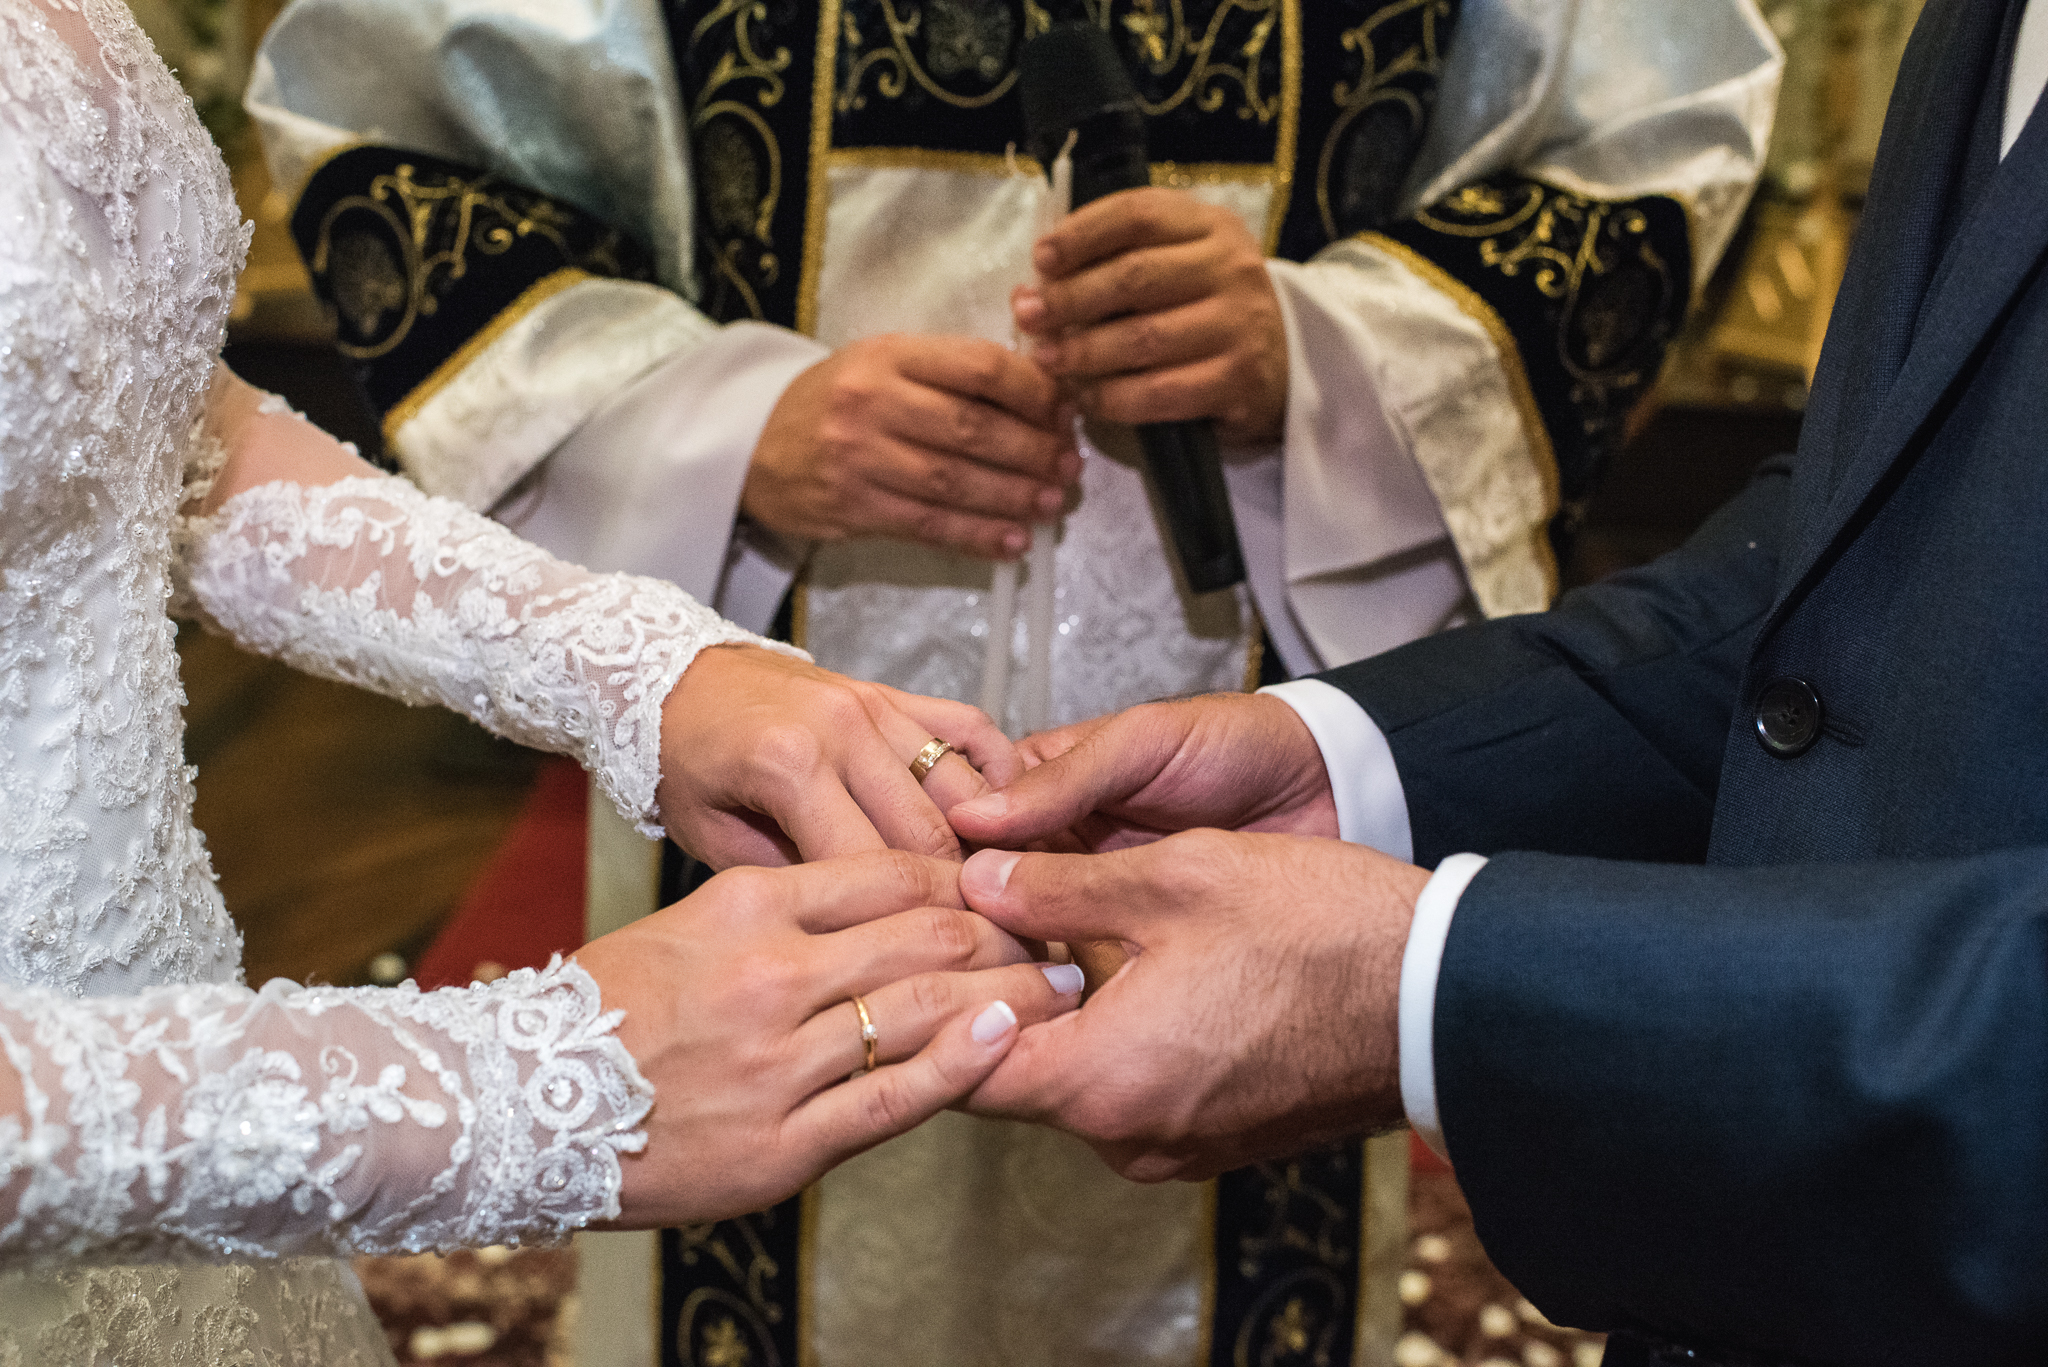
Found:
<path fill-rule="evenodd" d="M 504 844 L 420 955 L 412 976 L 422 988 L 465 986 L 485 963 L 543 967 L 584 943 L 588 799 L 580 764 L 549 758 L 541 767 Z"/>

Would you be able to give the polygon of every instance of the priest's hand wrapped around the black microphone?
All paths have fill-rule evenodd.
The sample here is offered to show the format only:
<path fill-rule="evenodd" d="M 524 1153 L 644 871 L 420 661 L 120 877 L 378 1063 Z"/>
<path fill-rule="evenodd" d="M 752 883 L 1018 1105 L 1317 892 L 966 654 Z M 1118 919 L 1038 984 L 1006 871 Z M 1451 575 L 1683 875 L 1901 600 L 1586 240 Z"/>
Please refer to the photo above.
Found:
<path fill-rule="evenodd" d="M 1278 441 L 1286 328 L 1266 252 L 1229 209 L 1186 191 L 1106 195 L 1032 252 L 1012 295 L 1032 359 L 1110 422 L 1214 418 L 1225 441 Z"/>

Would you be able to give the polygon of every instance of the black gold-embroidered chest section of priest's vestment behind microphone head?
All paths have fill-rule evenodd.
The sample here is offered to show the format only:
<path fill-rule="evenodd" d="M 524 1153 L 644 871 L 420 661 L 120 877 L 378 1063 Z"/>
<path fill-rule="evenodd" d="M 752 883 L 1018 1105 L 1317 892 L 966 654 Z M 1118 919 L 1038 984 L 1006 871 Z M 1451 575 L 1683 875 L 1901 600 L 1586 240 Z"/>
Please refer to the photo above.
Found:
<path fill-rule="evenodd" d="M 831 164 L 999 170 L 1022 43 L 1100 23 L 1147 113 L 1153 180 L 1274 187 L 1266 246 L 1378 227 L 1436 98 L 1456 0 L 668 0 L 696 158 L 700 305 L 811 322 Z"/>

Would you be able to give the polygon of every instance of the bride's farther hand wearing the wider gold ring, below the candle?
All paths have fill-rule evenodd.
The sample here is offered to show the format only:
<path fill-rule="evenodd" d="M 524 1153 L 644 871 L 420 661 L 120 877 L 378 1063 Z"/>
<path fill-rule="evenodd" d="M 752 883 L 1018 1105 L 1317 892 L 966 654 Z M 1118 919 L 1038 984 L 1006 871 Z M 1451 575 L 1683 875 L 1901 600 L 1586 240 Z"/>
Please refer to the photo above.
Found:
<path fill-rule="evenodd" d="M 920 785 L 909 764 L 934 738 L 956 754 Z M 696 656 L 662 707 L 662 818 L 715 869 L 881 848 L 958 861 L 944 810 L 1018 771 L 977 707 L 752 646 Z"/>

